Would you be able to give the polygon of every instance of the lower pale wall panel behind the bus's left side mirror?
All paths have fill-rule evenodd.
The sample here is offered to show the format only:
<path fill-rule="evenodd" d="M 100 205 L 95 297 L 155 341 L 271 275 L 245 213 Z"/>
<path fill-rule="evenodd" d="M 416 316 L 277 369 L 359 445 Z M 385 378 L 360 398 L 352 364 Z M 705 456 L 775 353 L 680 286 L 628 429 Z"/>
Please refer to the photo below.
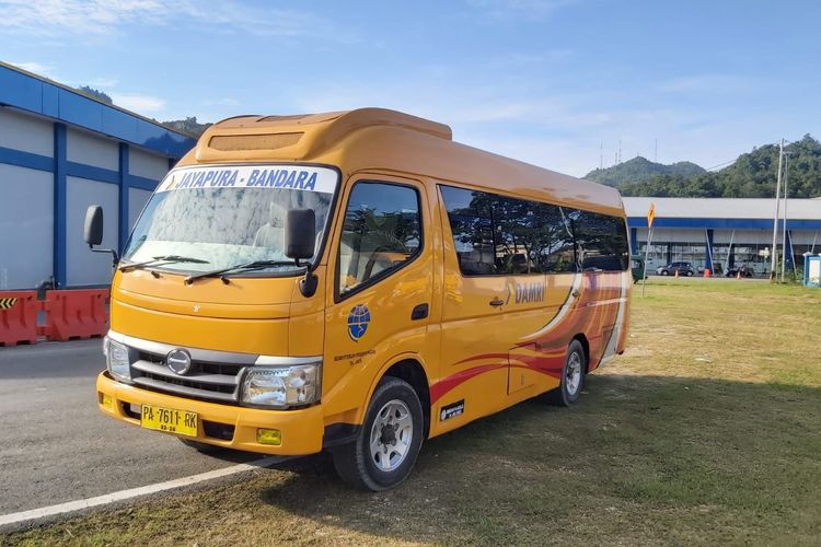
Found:
<path fill-rule="evenodd" d="M 107 284 L 112 281 L 112 256 L 92 253 L 83 240 L 85 210 L 103 206 L 103 243 L 100 248 L 117 248 L 119 188 L 116 184 L 68 177 L 66 199 L 66 269 L 69 286 Z"/>

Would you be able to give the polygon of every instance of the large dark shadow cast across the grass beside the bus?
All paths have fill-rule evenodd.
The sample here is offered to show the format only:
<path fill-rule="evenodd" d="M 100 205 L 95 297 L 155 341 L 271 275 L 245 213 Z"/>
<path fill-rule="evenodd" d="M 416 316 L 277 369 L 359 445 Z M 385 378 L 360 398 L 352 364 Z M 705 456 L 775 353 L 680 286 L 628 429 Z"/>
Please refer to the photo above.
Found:
<path fill-rule="evenodd" d="M 531 399 L 426 442 L 394 490 L 351 490 L 323 456 L 294 462 L 261 498 L 355 540 L 658 542 L 696 529 L 705 507 L 740 529 L 766 526 L 767 511 L 788 526 L 785 515 L 817 507 L 820 415 L 817 387 L 591 375 L 573 408 Z"/>

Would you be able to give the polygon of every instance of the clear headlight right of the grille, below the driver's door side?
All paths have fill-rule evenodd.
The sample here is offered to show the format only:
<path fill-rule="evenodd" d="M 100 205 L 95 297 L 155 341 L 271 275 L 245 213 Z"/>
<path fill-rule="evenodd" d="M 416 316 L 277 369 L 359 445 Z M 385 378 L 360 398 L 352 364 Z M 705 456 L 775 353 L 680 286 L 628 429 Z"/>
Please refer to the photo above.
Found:
<path fill-rule="evenodd" d="M 250 366 L 242 381 L 242 403 L 278 408 L 310 405 L 320 398 L 322 362 L 291 366 Z"/>

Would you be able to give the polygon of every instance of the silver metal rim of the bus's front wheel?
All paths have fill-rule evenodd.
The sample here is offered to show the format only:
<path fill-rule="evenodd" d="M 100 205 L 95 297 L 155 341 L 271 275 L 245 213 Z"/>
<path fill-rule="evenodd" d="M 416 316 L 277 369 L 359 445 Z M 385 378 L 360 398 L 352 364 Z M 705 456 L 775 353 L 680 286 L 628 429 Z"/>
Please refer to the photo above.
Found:
<path fill-rule="evenodd" d="M 371 461 L 383 472 L 396 469 L 405 461 L 413 438 L 410 409 L 400 399 L 389 400 L 380 408 L 371 427 Z"/>

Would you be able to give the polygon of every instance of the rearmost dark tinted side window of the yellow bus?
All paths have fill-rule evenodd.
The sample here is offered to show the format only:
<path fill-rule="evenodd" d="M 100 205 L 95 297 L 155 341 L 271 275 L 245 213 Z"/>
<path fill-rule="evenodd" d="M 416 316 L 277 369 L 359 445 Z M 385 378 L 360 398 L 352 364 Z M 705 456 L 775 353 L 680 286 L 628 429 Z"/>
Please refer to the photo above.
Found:
<path fill-rule="evenodd" d="M 582 270 L 622 271 L 629 260 L 624 220 L 573 211 L 573 231 Z"/>

